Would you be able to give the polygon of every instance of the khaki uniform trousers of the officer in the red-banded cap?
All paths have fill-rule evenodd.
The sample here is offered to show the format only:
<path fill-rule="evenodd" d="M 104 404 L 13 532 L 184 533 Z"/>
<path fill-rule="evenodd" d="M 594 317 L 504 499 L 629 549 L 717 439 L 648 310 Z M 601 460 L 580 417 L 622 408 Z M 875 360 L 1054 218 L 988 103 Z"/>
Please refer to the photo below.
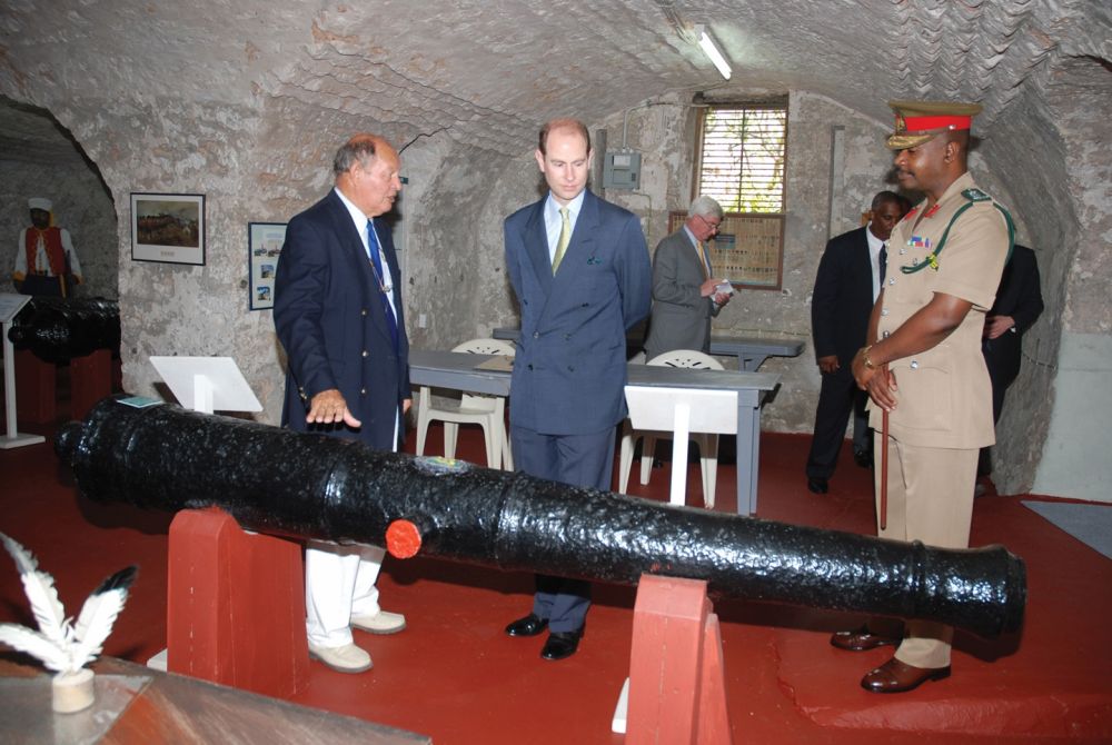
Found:
<path fill-rule="evenodd" d="M 876 508 L 880 514 L 881 433 L 876 433 Z M 977 448 L 921 447 L 888 437 L 887 526 L 882 538 L 921 540 L 941 548 L 967 548 L 973 518 Z M 896 659 L 915 667 L 945 667 L 954 629 L 909 620 Z"/>

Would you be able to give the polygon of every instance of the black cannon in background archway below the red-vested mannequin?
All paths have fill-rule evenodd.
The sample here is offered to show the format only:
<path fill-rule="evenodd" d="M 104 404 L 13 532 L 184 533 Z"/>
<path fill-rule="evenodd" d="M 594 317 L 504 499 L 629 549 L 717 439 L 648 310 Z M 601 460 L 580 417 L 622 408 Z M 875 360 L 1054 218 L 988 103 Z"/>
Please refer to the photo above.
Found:
<path fill-rule="evenodd" d="M 98 349 L 120 348 L 120 307 L 115 300 L 34 297 L 16 316 L 8 338 L 44 362 L 64 362 Z"/>

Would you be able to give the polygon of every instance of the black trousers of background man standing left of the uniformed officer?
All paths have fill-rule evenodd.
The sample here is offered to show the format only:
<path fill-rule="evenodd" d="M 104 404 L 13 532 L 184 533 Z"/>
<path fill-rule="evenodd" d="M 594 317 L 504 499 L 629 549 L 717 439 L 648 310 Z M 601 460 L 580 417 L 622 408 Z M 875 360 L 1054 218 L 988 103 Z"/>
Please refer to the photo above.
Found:
<path fill-rule="evenodd" d="M 865 413 L 868 395 L 857 388 L 851 367 L 843 365 L 836 372 L 823 372 L 822 377 L 815 430 L 807 454 L 807 478 L 830 478 L 834 474 L 851 413 L 854 451 L 871 453 L 873 449 L 872 430 Z"/>

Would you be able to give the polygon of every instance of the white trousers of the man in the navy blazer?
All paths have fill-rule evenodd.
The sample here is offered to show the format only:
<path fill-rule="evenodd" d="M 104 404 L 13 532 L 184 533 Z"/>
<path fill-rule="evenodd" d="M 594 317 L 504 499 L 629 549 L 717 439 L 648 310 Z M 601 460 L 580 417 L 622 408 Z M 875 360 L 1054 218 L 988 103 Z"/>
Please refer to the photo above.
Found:
<path fill-rule="evenodd" d="M 397 451 L 400 413 L 394 427 Z M 351 644 L 351 616 L 373 616 L 380 608 L 375 582 L 386 550 L 377 546 L 338 546 L 309 542 L 305 548 L 305 629 L 309 644 Z"/>

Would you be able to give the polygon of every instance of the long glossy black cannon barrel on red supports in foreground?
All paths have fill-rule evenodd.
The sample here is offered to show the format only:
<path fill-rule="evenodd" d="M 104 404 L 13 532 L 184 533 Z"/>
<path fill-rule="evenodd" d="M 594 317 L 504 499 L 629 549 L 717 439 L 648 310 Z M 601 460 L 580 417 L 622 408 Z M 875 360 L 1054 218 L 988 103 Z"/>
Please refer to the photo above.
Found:
<path fill-rule="evenodd" d="M 706 579 L 754 600 L 923 618 L 982 636 L 1019 628 L 1023 562 L 1002 546 L 941 549 L 576 488 L 254 421 L 103 399 L 54 447 L 82 494 L 166 510 L 217 506 L 262 533 L 385 546 L 634 584 Z"/>

